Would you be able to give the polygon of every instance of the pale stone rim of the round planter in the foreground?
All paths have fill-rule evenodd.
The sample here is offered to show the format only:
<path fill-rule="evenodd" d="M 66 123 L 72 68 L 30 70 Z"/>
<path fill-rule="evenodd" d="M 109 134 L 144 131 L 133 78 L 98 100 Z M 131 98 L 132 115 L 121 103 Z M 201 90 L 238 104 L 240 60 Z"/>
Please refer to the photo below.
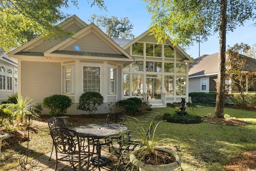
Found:
<path fill-rule="evenodd" d="M 171 153 L 176 158 L 176 162 L 166 164 L 166 165 L 147 165 L 147 164 L 143 163 L 142 161 L 139 161 L 138 159 L 136 159 L 135 154 L 138 150 L 135 150 L 130 154 L 130 161 L 136 167 L 139 167 L 140 171 L 171 171 L 171 170 L 174 170 L 174 169 L 180 167 L 181 158 L 180 158 L 180 156 L 178 156 L 177 153 L 175 153 L 174 151 L 171 151 L 169 149 L 165 149 L 165 148 L 161 148 L 161 147 L 155 147 L 155 149 Z"/>

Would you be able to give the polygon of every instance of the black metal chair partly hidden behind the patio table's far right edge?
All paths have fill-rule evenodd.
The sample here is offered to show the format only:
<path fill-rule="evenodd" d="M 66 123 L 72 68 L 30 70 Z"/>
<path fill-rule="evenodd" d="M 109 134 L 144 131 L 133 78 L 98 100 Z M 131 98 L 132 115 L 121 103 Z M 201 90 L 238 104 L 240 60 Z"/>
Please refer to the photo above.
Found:
<path fill-rule="evenodd" d="M 110 113 L 107 115 L 107 124 L 119 124 L 119 125 L 124 125 L 124 120 L 125 120 L 125 115 L 123 113 L 119 113 L 119 112 L 115 112 L 115 113 Z M 118 140 L 120 139 L 120 136 L 118 137 L 111 137 L 111 139 L 107 139 L 107 143 L 109 145 L 109 152 L 110 147 L 112 147 L 112 149 L 114 151 L 116 151 L 116 149 L 114 148 L 113 145 L 113 140 Z M 119 152 L 117 152 L 119 153 Z"/>

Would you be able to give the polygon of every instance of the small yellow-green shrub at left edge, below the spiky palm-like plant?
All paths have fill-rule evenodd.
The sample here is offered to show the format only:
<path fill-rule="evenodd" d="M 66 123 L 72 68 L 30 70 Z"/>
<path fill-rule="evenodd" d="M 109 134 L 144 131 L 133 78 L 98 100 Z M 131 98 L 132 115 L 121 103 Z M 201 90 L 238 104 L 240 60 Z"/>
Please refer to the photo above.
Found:
<path fill-rule="evenodd" d="M 8 129 L 13 124 L 14 115 L 9 109 L 0 107 L 0 128 Z"/>

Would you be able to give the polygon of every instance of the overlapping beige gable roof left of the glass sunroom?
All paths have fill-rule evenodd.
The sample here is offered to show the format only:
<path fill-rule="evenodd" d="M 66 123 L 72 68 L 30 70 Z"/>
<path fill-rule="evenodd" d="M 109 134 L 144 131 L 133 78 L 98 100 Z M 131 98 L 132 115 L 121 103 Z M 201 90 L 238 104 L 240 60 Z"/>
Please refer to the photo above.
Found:
<path fill-rule="evenodd" d="M 68 58 L 82 58 L 82 59 L 97 59 L 97 60 L 112 60 L 124 65 L 128 65 L 134 61 L 134 58 L 128 54 L 124 49 L 122 49 L 114 40 L 109 38 L 102 30 L 100 30 L 95 24 L 82 24 L 81 20 L 77 16 L 72 16 L 71 19 L 65 20 L 61 24 L 58 24 L 60 27 L 65 29 L 70 29 L 73 27 L 72 24 L 76 24 L 76 34 L 73 34 L 71 37 L 64 40 L 54 40 L 49 42 L 51 46 L 48 49 L 45 49 L 47 44 L 44 45 L 44 48 L 38 48 L 33 50 L 35 46 L 40 46 L 40 44 L 45 44 L 45 40 L 42 36 L 38 36 L 27 42 L 26 44 L 20 46 L 16 50 L 10 52 L 10 56 L 15 58 L 40 58 L 47 60 L 59 60 L 59 59 L 68 59 Z M 77 28 L 79 26 L 79 30 Z M 99 49 L 101 45 L 94 44 L 95 49 L 90 49 L 92 44 L 91 36 L 96 38 L 102 46 L 108 48 L 106 53 L 104 50 Z M 83 41 L 86 41 L 84 43 Z M 74 44 L 81 44 L 83 47 L 77 50 L 74 48 Z M 87 46 L 86 46 L 87 45 Z M 89 46 L 88 46 L 89 45 Z M 71 48 L 71 46 L 73 48 Z M 43 50 L 45 49 L 45 50 Z M 38 52 L 40 51 L 41 52 Z M 100 52 L 101 50 L 101 52 Z"/>

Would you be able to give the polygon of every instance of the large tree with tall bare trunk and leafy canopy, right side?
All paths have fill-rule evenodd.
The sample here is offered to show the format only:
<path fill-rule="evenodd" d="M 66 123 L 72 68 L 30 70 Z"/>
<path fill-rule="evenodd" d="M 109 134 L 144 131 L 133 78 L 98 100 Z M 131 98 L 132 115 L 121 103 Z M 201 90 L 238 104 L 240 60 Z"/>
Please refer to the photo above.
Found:
<path fill-rule="evenodd" d="M 226 31 L 256 19 L 256 0 L 144 0 L 152 14 L 150 31 L 158 42 L 166 33 L 174 45 L 189 46 L 196 36 L 219 32 L 219 70 L 215 117 L 224 117 Z"/>

